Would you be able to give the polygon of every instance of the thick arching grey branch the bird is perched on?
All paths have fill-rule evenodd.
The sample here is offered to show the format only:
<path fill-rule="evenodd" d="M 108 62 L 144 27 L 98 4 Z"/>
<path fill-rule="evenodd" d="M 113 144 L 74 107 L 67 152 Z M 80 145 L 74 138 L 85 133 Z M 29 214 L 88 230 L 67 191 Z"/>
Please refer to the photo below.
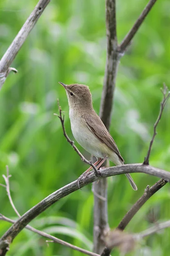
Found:
<path fill-rule="evenodd" d="M 114 175 L 125 174 L 125 173 L 132 173 L 132 172 L 141 172 L 146 173 L 154 176 L 161 177 L 165 180 L 170 181 L 170 172 L 152 167 L 143 164 L 128 164 L 124 166 L 113 166 L 105 169 L 100 170 L 100 177 L 96 177 L 95 173 L 89 172 L 88 176 L 84 180 L 84 176 L 79 179 L 79 186 L 80 188 L 96 181 L 97 179 L 106 178 Z M 32 207 L 28 210 L 23 216 L 21 216 L 1 237 L 0 239 L 0 256 L 6 255 L 8 251 L 8 247 L 13 241 L 13 239 L 23 230 L 26 225 L 36 218 L 40 213 L 44 212 L 48 207 L 50 207 L 55 202 L 59 201 L 61 198 L 71 194 L 72 192 L 78 190 L 77 180 L 68 185 L 58 189 L 56 192 L 52 193 L 45 199 L 43 199 L 40 203 Z"/>

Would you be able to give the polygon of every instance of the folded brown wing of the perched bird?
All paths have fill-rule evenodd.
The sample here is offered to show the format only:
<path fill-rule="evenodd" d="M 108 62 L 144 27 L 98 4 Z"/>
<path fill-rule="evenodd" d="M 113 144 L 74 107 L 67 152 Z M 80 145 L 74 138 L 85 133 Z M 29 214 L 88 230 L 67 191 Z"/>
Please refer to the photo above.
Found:
<path fill-rule="evenodd" d="M 85 114 L 82 117 L 84 118 L 88 128 L 93 132 L 93 134 L 100 141 L 105 143 L 111 150 L 113 150 L 118 155 L 118 157 L 124 162 L 115 141 L 111 137 L 111 134 L 108 132 L 99 116 L 94 112 L 93 115 Z"/>

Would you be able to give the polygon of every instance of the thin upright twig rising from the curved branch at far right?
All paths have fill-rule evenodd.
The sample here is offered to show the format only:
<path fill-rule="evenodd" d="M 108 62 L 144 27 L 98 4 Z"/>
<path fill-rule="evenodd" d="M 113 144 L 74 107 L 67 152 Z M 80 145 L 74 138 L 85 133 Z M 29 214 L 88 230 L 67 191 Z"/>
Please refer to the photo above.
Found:
<path fill-rule="evenodd" d="M 158 115 L 158 118 L 157 118 L 157 120 L 154 124 L 152 140 L 150 141 L 149 149 L 147 151 L 146 157 L 144 157 L 144 162 L 143 162 L 143 164 L 147 164 L 147 165 L 149 164 L 150 151 L 151 151 L 151 148 L 152 148 L 152 145 L 153 145 L 153 141 L 154 141 L 155 136 L 157 134 L 157 132 L 156 132 L 157 125 L 159 124 L 159 121 L 161 120 L 161 116 L 162 116 L 162 113 L 163 113 L 163 110 L 164 110 L 164 106 L 166 105 L 166 102 L 170 97 L 170 91 L 167 92 L 167 86 L 165 84 L 164 84 L 164 88 L 161 89 L 161 92 L 163 94 L 163 99 L 161 101 L 159 115 Z"/>

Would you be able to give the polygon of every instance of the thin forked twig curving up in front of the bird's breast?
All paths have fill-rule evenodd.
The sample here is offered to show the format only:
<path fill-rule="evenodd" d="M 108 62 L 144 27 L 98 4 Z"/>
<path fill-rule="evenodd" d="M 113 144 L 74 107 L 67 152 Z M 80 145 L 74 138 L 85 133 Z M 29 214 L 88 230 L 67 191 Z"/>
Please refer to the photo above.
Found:
<path fill-rule="evenodd" d="M 59 115 L 57 115 L 56 113 L 54 113 L 55 116 L 58 116 L 60 121 L 61 121 L 61 124 L 62 124 L 62 130 L 63 130 L 63 134 L 66 138 L 66 140 L 68 141 L 68 143 L 71 144 L 71 146 L 74 148 L 74 150 L 77 152 L 77 154 L 81 157 L 82 161 L 89 164 L 93 169 L 94 169 L 94 172 L 95 174 L 99 177 L 99 172 L 98 170 L 96 169 L 96 166 L 94 166 L 94 164 L 91 162 L 91 161 L 88 161 L 82 154 L 81 152 L 78 150 L 78 148 L 74 145 L 74 141 L 70 140 L 70 138 L 68 137 L 68 135 L 66 134 L 66 131 L 65 131 L 65 125 L 64 125 L 64 115 L 62 116 L 62 109 L 59 105 L 59 99 L 57 99 L 57 103 L 58 103 L 58 108 L 59 108 Z"/>

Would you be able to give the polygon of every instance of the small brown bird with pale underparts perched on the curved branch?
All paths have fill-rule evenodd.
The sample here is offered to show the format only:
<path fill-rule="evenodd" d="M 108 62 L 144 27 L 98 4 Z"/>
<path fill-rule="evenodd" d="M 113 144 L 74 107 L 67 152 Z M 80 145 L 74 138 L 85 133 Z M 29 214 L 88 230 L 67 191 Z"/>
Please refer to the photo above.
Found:
<path fill-rule="evenodd" d="M 97 157 L 96 168 L 98 169 L 107 158 L 116 166 L 123 165 L 124 160 L 115 141 L 93 109 L 88 86 L 84 84 L 66 85 L 61 82 L 59 84 L 62 84 L 67 93 L 71 131 L 74 138 L 86 151 Z M 137 190 L 130 174 L 125 175 L 132 188 Z"/>

